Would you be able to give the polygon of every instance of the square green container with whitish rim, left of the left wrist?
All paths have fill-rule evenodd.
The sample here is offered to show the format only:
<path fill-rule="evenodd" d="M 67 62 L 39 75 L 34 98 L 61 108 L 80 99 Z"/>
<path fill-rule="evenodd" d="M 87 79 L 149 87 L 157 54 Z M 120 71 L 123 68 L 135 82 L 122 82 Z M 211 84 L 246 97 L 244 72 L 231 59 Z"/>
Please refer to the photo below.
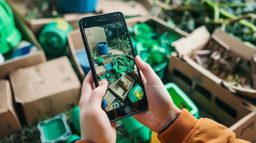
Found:
<path fill-rule="evenodd" d="M 38 123 L 37 128 L 40 131 L 42 143 L 65 142 L 72 135 L 64 113 Z"/>

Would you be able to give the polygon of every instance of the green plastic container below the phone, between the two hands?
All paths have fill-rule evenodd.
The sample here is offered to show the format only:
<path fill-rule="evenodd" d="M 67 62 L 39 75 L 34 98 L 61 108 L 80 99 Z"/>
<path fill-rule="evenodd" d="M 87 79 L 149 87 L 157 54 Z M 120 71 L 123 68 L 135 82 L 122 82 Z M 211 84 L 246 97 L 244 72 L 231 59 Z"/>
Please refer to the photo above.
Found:
<path fill-rule="evenodd" d="M 141 138 L 144 142 L 148 142 L 151 137 L 151 130 L 146 126 L 139 123 L 132 116 L 121 119 L 124 127 L 127 132 L 132 136 L 132 138 L 137 141 L 138 138 Z"/>

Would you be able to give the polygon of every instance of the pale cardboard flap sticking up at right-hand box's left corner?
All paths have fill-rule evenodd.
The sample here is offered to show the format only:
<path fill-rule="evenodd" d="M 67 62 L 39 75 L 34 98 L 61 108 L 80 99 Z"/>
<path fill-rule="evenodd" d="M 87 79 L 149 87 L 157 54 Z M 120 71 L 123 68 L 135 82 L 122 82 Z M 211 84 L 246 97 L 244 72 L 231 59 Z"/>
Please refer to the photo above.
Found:
<path fill-rule="evenodd" d="M 173 42 L 172 46 L 175 47 L 180 58 L 182 58 L 183 55 L 191 57 L 194 51 L 204 48 L 209 39 L 210 33 L 206 29 L 206 26 L 200 26 L 187 37 L 182 37 Z"/>

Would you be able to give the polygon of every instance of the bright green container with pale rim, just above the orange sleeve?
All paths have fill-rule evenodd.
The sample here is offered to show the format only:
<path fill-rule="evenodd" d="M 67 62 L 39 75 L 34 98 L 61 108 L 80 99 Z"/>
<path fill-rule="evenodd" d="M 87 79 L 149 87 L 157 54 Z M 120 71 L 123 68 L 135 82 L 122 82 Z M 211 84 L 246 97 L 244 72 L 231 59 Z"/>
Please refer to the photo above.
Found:
<path fill-rule="evenodd" d="M 197 119 L 200 118 L 198 107 L 176 84 L 167 83 L 164 85 L 171 95 L 174 104 L 178 108 L 186 108 Z"/>

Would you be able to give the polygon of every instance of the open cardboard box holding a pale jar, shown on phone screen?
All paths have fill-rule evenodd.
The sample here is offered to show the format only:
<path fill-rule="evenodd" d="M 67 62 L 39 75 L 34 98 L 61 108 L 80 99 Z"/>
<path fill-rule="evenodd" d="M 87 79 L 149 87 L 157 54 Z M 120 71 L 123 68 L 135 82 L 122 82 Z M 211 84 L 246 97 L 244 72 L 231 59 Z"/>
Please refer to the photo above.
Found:
<path fill-rule="evenodd" d="M 117 81 L 115 81 L 113 84 L 111 84 L 110 86 L 108 86 L 110 88 L 110 90 L 112 92 L 115 93 L 115 95 L 117 95 L 117 97 L 119 97 L 122 101 L 124 101 L 124 99 L 126 98 L 126 96 L 128 95 L 128 92 L 132 89 L 134 82 L 132 82 L 128 88 L 128 90 L 125 90 L 123 87 L 121 87 L 121 85 L 119 84 L 119 81 L 121 80 L 122 77 L 120 77 Z M 120 85 L 120 86 L 118 86 Z M 117 89 L 115 89 L 115 87 L 117 87 Z"/>

